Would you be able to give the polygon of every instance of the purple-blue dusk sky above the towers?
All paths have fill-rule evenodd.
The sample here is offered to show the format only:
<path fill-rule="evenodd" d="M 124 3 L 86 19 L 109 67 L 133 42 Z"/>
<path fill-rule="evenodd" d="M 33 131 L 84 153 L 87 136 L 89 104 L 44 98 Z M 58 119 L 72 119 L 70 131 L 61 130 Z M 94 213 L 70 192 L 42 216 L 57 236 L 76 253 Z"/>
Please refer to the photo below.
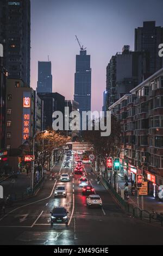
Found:
<path fill-rule="evenodd" d="M 37 86 L 38 61 L 47 61 L 49 55 L 53 92 L 73 99 L 77 35 L 91 55 L 92 110 L 101 111 L 111 56 L 123 45 L 134 51 L 135 28 L 143 21 L 163 26 L 162 9 L 162 0 L 32 0 L 30 86 Z"/>

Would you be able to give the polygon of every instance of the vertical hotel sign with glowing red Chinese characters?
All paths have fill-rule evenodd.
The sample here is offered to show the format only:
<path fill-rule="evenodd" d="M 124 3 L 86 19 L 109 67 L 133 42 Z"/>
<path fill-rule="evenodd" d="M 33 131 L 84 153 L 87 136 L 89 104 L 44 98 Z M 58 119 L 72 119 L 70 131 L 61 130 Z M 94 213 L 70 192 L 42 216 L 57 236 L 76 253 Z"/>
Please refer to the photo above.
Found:
<path fill-rule="evenodd" d="M 30 92 L 23 92 L 22 144 L 30 137 Z"/>

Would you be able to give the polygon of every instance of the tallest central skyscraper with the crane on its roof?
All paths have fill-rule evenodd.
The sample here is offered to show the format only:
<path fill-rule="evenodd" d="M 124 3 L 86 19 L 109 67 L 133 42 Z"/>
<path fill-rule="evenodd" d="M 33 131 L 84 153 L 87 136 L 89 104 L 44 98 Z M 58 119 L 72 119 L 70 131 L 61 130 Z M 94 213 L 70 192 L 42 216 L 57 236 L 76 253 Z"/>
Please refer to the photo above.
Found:
<path fill-rule="evenodd" d="M 90 55 L 81 48 L 76 56 L 76 73 L 74 81 L 74 100 L 79 103 L 80 113 L 91 111 L 91 68 Z"/>

